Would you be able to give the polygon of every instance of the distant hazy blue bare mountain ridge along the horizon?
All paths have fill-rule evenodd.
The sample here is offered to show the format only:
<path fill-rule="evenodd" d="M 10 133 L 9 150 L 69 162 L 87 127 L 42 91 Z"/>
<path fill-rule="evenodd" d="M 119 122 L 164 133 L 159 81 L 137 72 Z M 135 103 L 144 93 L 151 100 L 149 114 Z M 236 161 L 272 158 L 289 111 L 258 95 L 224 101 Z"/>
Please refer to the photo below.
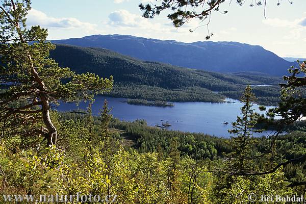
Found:
<path fill-rule="evenodd" d="M 141 60 L 217 72 L 257 71 L 280 76 L 287 74 L 292 65 L 261 46 L 238 42 L 183 43 L 124 35 L 93 35 L 52 42 L 107 48 Z"/>

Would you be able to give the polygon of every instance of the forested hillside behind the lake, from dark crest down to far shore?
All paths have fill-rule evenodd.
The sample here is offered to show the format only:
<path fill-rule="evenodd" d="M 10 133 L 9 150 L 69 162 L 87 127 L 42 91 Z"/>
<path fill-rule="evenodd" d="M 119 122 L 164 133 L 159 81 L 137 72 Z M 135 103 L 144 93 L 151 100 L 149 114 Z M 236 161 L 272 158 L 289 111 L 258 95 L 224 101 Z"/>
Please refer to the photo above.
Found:
<path fill-rule="evenodd" d="M 247 84 L 278 85 L 282 81 L 252 73 L 223 74 L 145 62 L 101 48 L 58 44 L 50 57 L 77 73 L 113 75 L 115 84 L 109 95 L 115 97 L 220 102 L 225 97 L 239 98 Z M 254 89 L 258 90 L 259 103 L 275 105 L 279 96 L 277 87 Z"/>

